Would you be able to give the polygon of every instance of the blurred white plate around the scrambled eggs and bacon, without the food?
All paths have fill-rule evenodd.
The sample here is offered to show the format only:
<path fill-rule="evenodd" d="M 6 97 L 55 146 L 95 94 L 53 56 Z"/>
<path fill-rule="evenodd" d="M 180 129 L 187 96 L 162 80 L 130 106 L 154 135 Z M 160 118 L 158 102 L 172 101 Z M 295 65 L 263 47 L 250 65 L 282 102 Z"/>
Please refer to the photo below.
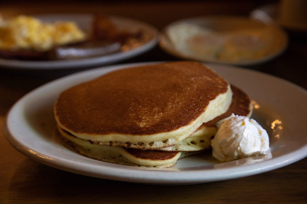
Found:
<path fill-rule="evenodd" d="M 44 22 L 55 22 L 58 20 L 74 21 L 76 24 L 88 32 L 91 26 L 92 15 L 89 14 L 45 14 L 37 16 Z M 142 30 L 148 40 L 143 45 L 134 49 L 118 52 L 114 54 L 107 54 L 98 57 L 89 57 L 72 60 L 50 60 L 50 61 L 27 61 L 27 60 L 9 60 L 0 58 L 0 66 L 10 69 L 75 69 L 83 67 L 93 67 L 98 65 L 106 65 L 121 60 L 125 60 L 139 54 L 142 54 L 152 49 L 157 44 L 158 31 L 153 26 L 144 22 L 129 19 L 126 17 L 110 16 L 112 22 L 120 29 L 127 31 Z"/>

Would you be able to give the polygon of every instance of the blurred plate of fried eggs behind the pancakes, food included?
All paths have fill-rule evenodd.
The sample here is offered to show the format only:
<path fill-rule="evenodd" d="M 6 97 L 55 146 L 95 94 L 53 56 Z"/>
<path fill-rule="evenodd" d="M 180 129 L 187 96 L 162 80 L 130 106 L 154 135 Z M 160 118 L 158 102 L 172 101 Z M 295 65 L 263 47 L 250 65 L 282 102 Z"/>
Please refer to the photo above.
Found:
<path fill-rule="evenodd" d="M 230 65 L 255 65 L 271 60 L 287 46 L 278 26 L 247 17 L 204 16 L 167 25 L 159 45 L 174 56 Z"/>

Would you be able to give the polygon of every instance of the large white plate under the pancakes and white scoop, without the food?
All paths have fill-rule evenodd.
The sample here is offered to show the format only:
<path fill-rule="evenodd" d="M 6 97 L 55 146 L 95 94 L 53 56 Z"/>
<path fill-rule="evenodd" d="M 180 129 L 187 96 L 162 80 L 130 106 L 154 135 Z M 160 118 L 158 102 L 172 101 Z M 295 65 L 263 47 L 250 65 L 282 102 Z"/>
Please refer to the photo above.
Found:
<path fill-rule="evenodd" d="M 96 161 L 64 145 L 55 131 L 53 104 L 61 91 L 129 65 L 79 72 L 47 83 L 10 110 L 5 135 L 21 153 L 43 164 L 98 178 L 146 184 L 197 184 L 250 176 L 289 165 L 307 156 L 307 92 L 285 80 L 227 65 L 210 65 L 253 100 L 256 119 L 270 135 L 272 155 L 217 162 L 211 152 L 183 158 L 168 169 L 131 167 Z"/>

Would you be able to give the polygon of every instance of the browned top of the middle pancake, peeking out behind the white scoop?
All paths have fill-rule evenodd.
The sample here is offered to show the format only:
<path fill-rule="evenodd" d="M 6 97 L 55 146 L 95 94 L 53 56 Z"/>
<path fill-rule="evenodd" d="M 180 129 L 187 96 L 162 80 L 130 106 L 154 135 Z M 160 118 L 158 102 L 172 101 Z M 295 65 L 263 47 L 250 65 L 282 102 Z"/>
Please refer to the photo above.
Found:
<path fill-rule="evenodd" d="M 218 121 L 229 117 L 232 113 L 239 116 L 247 116 L 250 113 L 251 99 L 249 98 L 249 96 L 244 91 L 242 91 L 238 87 L 235 87 L 234 85 L 231 85 L 231 91 L 232 101 L 226 113 L 214 118 L 211 121 L 204 123 L 203 125 L 205 125 L 206 127 L 216 127 L 216 123 Z"/>

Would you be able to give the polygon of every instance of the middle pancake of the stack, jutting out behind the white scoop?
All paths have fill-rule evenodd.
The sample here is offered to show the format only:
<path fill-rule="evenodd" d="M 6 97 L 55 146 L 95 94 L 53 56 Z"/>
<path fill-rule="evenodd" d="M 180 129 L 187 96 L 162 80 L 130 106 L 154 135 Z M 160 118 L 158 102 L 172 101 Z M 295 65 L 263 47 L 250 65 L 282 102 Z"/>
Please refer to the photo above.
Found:
<path fill-rule="evenodd" d="M 253 106 L 249 96 L 234 85 L 231 85 L 232 101 L 226 113 L 203 123 L 195 133 L 171 147 L 160 148 L 163 151 L 199 151 L 211 148 L 211 140 L 217 132 L 216 123 L 229 117 L 232 113 L 239 116 L 251 117 Z"/>

